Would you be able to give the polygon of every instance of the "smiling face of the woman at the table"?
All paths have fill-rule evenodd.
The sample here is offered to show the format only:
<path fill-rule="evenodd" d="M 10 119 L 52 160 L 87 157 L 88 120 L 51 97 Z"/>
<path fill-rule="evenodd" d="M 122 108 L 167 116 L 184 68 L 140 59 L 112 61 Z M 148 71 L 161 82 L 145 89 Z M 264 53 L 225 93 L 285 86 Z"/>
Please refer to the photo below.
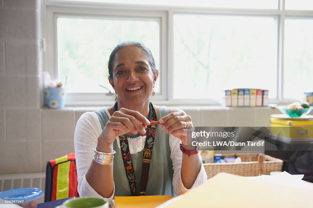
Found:
<path fill-rule="evenodd" d="M 145 54 L 136 46 L 126 46 L 117 52 L 113 64 L 113 79 L 109 78 L 119 102 L 139 104 L 149 100 L 158 71 L 153 75 Z"/>

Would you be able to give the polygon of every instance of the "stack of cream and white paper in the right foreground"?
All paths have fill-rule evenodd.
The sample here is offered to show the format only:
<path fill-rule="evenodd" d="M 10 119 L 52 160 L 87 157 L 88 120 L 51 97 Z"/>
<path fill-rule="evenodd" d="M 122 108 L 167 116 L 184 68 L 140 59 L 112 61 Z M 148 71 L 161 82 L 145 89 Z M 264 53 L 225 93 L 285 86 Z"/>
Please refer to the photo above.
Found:
<path fill-rule="evenodd" d="M 312 184 L 288 173 L 262 177 L 241 177 L 220 173 L 159 208 L 312 208 L 312 196 Z"/>

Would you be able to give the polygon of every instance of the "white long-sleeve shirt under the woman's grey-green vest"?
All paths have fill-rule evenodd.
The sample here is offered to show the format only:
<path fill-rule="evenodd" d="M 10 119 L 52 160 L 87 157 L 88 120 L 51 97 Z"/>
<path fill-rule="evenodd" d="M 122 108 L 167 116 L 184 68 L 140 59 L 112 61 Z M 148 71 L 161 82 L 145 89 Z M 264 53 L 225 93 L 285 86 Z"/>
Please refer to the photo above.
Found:
<path fill-rule="evenodd" d="M 105 113 L 110 118 L 109 112 L 102 108 Z M 101 197 L 87 182 L 86 172 L 90 167 L 90 163 L 93 160 L 93 148 L 97 146 L 98 136 L 102 132 L 101 124 L 98 116 L 94 112 L 84 113 L 76 124 L 75 134 L 74 134 L 74 146 L 75 146 L 75 156 L 76 156 L 76 168 L 77 168 L 77 180 L 78 186 L 77 190 L 80 196 L 98 196 Z M 117 137 L 117 144 L 120 147 L 119 138 Z M 140 136 L 138 138 L 128 138 L 129 150 L 131 154 L 141 152 L 144 148 L 146 141 L 146 136 Z M 176 195 L 183 194 L 189 189 L 186 189 L 182 184 L 181 179 L 181 166 L 182 166 L 182 151 L 180 150 L 181 140 L 172 135 L 169 137 L 169 146 L 171 149 L 171 160 L 173 166 L 173 186 Z M 199 157 L 200 154 L 198 154 Z M 201 170 L 198 173 L 197 179 L 194 182 L 193 187 L 198 186 L 207 181 L 207 174 L 204 170 L 203 165 L 201 165 Z M 113 195 L 110 198 L 107 198 L 108 201 L 111 201 L 114 197 Z"/>

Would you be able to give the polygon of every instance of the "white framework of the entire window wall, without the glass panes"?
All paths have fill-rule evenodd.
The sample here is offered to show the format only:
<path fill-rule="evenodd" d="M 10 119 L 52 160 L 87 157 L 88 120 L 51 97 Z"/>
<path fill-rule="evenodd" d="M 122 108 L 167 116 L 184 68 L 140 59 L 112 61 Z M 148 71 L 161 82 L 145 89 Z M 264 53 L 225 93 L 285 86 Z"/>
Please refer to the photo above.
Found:
<path fill-rule="evenodd" d="M 277 96 L 270 103 L 285 104 L 296 101 L 283 98 L 284 76 L 284 28 L 286 18 L 310 18 L 312 11 L 285 10 L 285 0 L 278 0 L 277 9 L 239 9 L 213 7 L 153 6 L 121 3 L 74 2 L 46 0 L 43 5 L 42 36 L 46 42 L 43 68 L 51 77 L 57 78 L 57 17 L 100 17 L 119 19 L 157 20 L 160 26 L 160 92 L 152 97 L 156 104 L 167 105 L 220 105 L 218 99 L 173 99 L 173 17 L 174 14 L 207 14 L 275 17 L 277 19 Z M 105 70 L 105 69 L 104 69 Z M 183 83 L 182 83 L 183 90 Z M 66 105 L 105 105 L 112 103 L 111 96 L 105 93 L 69 93 Z"/>

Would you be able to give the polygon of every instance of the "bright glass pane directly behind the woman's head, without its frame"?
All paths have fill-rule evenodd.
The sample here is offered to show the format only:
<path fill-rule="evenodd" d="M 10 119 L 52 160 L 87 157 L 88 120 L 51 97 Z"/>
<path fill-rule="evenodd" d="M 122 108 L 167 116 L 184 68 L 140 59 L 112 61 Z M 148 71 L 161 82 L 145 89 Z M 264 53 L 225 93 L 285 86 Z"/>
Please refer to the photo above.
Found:
<path fill-rule="evenodd" d="M 67 93 L 105 92 L 99 84 L 114 92 L 107 63 L 111 51 L 123 41 L 144 43 L 159 68 L 158 31 L 154 20 L 57 17 L 58 74 L 69 78 Z M 155 91 L 159 92 L 158 86 Z"/>

